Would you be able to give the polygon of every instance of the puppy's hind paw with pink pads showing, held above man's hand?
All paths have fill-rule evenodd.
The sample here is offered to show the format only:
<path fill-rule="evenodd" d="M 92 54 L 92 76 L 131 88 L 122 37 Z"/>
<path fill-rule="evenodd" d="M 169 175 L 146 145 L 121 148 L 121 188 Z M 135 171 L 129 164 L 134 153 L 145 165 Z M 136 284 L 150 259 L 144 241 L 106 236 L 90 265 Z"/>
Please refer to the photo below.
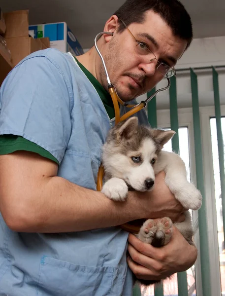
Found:
<path fill-rule="evenodd" d="M 161 247 L 170 241 L 172 230 L 172 221 L 167 217 L 157 220 L 148 219 L 142 225 L 137 237 L 144 243 Z"/>

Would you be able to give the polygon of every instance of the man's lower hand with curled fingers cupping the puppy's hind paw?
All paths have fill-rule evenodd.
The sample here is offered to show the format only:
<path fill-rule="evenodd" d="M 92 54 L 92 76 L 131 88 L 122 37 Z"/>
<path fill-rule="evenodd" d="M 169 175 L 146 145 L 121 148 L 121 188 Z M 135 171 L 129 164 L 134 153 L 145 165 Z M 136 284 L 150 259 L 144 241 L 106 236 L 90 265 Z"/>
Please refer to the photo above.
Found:
<path fill-rule="evenodd" d="M 197 259 L 197 249 L 191 246 L 173 226 L 170 242 L 155 248 L 129 234 L 128 265 L 138 279 L 161 280 L 189 269 Z"/>

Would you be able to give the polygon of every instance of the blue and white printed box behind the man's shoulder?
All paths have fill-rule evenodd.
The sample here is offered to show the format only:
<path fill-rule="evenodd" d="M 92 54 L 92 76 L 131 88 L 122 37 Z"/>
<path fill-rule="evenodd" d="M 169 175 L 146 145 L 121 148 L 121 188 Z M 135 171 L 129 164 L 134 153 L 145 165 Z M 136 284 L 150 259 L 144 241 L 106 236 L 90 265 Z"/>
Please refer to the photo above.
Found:
<path fill-rule="evenodd" d="M 29 26 L 29 34 L 33 38 L 49 37 L 50 47 L 62 52 L 70 51 L 74 55 L 84 53 L 80 43 L 65 22 Z"/>

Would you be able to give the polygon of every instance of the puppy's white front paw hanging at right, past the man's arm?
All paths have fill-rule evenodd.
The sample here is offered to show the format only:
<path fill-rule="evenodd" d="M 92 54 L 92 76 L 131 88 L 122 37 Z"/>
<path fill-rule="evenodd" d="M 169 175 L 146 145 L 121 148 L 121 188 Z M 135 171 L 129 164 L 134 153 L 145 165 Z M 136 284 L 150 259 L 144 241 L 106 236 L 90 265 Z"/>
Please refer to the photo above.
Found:
<path fill-rule="evenodd" d="M 186 209 L 198 210 L 202 204 L 201 192 L 192 183 L 183 186 L 175 197 Z"/>

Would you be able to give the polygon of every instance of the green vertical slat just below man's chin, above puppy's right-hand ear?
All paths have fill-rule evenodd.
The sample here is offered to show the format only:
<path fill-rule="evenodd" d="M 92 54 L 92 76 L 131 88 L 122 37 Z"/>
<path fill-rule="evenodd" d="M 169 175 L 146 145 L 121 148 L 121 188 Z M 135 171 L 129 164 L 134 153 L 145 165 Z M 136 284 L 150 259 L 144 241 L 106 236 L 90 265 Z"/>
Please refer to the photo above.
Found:
<path fill-rule="evenodd" d="M 147 97 L 149 98 L 153 93 L 156 91 L 156 88 L 154 87 L 151 91 L 147 93 Z M 154 97 L 149 103 L 148 103 L 148 121 L 152 128 L 157 128 L 157 108 L 156 108 L 156 97 Z M 163 296 L 163 284 L 157 285 L 155 287 L 155 296 Z"/>

